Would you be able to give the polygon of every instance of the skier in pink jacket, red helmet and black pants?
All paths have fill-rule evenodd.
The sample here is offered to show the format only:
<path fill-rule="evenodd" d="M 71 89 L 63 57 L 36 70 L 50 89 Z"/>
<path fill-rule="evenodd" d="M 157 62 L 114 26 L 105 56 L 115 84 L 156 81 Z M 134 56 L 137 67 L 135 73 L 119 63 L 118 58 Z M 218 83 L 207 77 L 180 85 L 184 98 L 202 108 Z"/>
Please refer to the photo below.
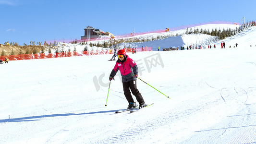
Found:
<path fill-rule="evenodd" d="M 126 55 L 125 50 L 121 49 L 117 52 L 118 60 L 114 66 L 114 69 L 110 73 L 109 80 L 115 80 L 114 76 L 120 70 L 122 76 L 122 86 L 124 96 L 128 101 L 129 105 L 127 109 L 135 108 L 136 104 L 134 102 L 133 96 L 131 95 L 130 89 L 132 94 L 136 97 L 136 100 L 139 102 L 139 108 L 146 107 L 145 101 L 141 96 L 141 93 L 137 89 L 137 77 L 138 77 L 138 66 L 128 55 Z"/>

